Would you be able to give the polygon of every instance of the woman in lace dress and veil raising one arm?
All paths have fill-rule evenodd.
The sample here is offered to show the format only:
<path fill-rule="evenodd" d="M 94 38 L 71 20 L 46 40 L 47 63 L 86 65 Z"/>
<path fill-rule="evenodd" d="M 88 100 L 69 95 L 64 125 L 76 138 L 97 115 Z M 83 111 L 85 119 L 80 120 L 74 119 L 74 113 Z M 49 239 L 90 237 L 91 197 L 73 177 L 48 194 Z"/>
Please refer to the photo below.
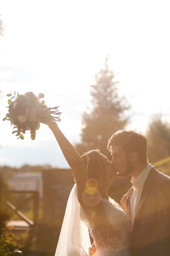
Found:
<path fill-rule="evenodd" d="M 52 130 L 76 182 L 67 202 L 55 256 L 88 256 L 89 232 L 95 256 L 130 256 L 127 214 L 108 195 L 110 183 L 118 177 L 112 163 L 98 150 L 80 156 L 56 123 L 37 119 L 36 114 L 32 111 L 30 119 Z"/>

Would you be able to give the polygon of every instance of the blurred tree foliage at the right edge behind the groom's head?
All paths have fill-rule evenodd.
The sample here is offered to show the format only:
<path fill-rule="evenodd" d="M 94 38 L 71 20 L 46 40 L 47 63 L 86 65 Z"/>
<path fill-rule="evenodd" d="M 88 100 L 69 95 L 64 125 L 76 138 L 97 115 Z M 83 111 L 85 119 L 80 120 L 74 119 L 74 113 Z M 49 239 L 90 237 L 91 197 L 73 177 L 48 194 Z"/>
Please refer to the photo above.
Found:
<path fill-rule="evenodd" d="M 170 156 L 170 123 L 155 116 L 147 130 L 148 158 L 151 163 Z"/>

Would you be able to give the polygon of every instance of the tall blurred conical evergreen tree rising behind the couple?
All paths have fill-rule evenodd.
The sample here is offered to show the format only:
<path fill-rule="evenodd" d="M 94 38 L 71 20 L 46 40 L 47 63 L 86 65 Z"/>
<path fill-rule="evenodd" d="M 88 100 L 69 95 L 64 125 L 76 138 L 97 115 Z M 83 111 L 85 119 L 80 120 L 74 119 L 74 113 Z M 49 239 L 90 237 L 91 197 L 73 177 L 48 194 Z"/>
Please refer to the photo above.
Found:
<path fill-rule="evenodd" d="M 118 96 L 115 74 L 105 67 L 95 75 L 96 83 L 91 85 L 92 108 L 83 114 L 81 143 L 77 145 L 80 154 L 87 149 L 99 148 L 102 154 L 109 156 L 107 141 L 119 129 L 123 129 L 129 118 L 125 111 L 130 108 L 125 97 Z"/>

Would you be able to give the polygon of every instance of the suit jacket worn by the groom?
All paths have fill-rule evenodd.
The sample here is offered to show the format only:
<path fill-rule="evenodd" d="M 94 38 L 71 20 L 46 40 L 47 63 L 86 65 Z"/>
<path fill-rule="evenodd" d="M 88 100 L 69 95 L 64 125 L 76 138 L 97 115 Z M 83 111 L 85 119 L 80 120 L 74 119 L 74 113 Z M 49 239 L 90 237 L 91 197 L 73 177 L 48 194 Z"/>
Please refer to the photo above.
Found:
<path fill-rule="evenodd" d="M 170 177 L 154 167 L 141 192 L 130 244 L 132 256 L 170 256 Z"/>

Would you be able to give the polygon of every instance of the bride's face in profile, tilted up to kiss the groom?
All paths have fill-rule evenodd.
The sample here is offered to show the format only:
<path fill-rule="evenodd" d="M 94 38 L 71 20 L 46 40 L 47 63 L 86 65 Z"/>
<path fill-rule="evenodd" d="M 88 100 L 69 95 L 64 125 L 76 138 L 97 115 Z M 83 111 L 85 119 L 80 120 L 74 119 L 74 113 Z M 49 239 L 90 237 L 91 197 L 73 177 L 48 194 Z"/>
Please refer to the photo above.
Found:
<path fill-rule="evenodd" d="M 114 169 L 113 164 L 109 161 L 109 159 L 105 155 L 101 154 L 101 157 L 103 159 L 104 169 L 105 169 L 104 179 L 106 181 L 114 180 L 115 178 L 118 177 L 118 175 Z"/>

